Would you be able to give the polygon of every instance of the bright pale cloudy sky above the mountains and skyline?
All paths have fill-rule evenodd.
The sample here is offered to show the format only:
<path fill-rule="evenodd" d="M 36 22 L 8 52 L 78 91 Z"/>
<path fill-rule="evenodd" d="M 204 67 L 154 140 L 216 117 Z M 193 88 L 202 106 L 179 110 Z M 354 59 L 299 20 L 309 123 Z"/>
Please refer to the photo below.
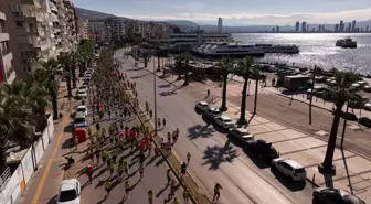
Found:
<path fill-rule="evenodd" d="M 72 0 L 75 6 L 139 20 L 201 24 L 293 25 L 371 19 L 371 0 Z"/>

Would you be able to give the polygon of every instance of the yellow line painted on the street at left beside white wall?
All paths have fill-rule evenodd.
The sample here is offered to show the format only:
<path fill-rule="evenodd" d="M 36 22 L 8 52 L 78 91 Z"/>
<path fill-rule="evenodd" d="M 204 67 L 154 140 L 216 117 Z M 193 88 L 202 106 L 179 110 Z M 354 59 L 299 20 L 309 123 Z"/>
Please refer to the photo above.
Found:
<path fill-rule="evenodd" d="M 57 150 L 59 150 L 59 147 L 60 147 L 61 141 L 62 141 L 62 138 L 63 138 L 63 133 L 64 133 L 63 128 L 64 128 L 64 127 L 67 125 L 67 122 L 68 122 L 68 119 L 67 119 L 67 118 L 68 118 L 68 117 L 67 117 L 67 115 L 65 114 L 65 115 L 63 116 L 63 121 L 62 121 L 62 131 L 61 131 L 61 132 L 59 133 L 59 136 L 57 136 L 56 146 L 55 146 L 55 148 L 54 148 L 54 150 L 53 150 L 53 152 L 52 152 L 52 157 L 51 157 L 51 158 L 49 159 L 49 161 L 47 161 L 45 171 L 44 171 L 44 173 L 42 174 L 41 181 L 40 181 L 40 183 L 39 183 L 39 186 L 38 186 L 38 189 L 36 189 L 35 194 L 33 195 L 33 198 L 32 198 L 31 204 L 36 204 L 36 203 L 38 203 L 39 197 L 40 197 L 40 194 L 41 194 L 42 190 L 44 189 L 45 181 L 46 181 L 46 178 L 47 178 L 47 175 L 49 175 L 50 169 L 51 169 L 51 167 L 52 167 L 54 157 L 56 155 L 56 152 L 57 152 Z"/>

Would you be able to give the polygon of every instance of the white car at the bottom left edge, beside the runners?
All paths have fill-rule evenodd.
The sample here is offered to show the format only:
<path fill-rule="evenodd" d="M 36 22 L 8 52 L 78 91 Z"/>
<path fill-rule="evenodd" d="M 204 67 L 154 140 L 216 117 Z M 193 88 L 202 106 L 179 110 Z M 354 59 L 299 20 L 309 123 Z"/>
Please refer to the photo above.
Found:
<path fill-rule="evenodd" d="M 57 195 L 57 204 L 80 204 L 81 185 L 76 179 L 62 181 L 60 193 Z"/>

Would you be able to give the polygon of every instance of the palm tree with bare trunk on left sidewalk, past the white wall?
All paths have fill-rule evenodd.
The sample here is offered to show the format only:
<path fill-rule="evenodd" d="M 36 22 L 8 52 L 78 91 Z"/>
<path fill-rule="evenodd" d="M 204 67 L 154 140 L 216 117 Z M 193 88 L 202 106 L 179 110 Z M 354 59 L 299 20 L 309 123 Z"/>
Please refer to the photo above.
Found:
<path fill-rule="evenodd" d="M 54 58 L 50 58 L 42 64 L 43 68 L 39 68 L 34 72 L 34 82 L 45 87 L 52 100 L 53 106 L 53 119 L 57 119 L 57 83 L 56 77 L 62 76 L 62 72 L 59 68 L 57 62 Z"/>

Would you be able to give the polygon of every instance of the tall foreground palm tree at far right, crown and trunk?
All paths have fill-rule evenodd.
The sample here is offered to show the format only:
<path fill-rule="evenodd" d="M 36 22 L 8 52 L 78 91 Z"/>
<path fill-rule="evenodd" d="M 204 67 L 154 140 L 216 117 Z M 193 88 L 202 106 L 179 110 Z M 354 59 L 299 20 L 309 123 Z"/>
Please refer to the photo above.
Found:
<path fill-rule="evenodd" d="M 328 87 L 328 90 L 325 92 L 325 95 L 327 97 L 331 97 L 333 99 L 335 104 L 335 110 L 333 110 L 333 119 L 332 119 L 332 126 L 330 131 L 330 137 L 327 143 L 327 150 L 326 155 L 324 159 L 324 162 L 319 164 L 318 169 L 321 172 L 326 173 L 335 173 L 336 169 L 332 164 L 333 160 L 333 152 L 336 148 L 336 141 L 338 136 L 338 128 L 340 118 L 342 116 L 342 108 L 346 103 L 348 103 L 350 99 L 359 98 L 356 95 L 356 88 L 352 87 L 352 84 L 354 84 L 357 80 L 359 80 L 359 76 L 347 72 L 347 73 L 340 73 L 338 72 L 335 77 L 335 84 L 331 84 Z"/>

